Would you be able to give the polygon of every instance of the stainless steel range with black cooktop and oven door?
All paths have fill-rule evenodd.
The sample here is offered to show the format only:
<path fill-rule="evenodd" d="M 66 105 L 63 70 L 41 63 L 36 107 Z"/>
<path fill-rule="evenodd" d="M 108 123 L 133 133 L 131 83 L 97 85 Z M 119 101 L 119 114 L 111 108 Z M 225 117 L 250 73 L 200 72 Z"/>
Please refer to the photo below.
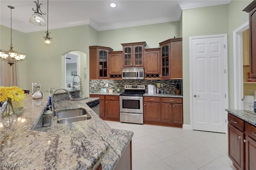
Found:
<path fill-rule="evenodd" d="M 120 122 L 143 124 L 145 85 L 125 85 L 120 94 Z"/>

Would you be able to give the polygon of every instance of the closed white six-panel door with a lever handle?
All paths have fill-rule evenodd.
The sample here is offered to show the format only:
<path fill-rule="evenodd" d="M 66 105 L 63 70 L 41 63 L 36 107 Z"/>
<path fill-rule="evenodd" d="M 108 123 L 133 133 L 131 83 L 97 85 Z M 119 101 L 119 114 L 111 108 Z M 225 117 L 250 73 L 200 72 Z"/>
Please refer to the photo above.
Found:
<path fill-rule="evenodd" d="M 190 43 L 193 129 L 226 133 L 226 35 Z"/>

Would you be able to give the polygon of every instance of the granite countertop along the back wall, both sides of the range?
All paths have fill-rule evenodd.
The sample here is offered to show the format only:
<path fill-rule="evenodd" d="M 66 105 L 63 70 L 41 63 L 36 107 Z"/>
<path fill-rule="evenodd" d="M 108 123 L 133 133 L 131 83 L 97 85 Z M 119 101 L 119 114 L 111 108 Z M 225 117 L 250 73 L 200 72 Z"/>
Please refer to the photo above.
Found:
<path fill-rule="evenodd" d="M 122 93 L 122 92 L 121 92 Z M 106 93 L 102 93 L 102 92 L 93 92 L 90 93 L 92 95 L 114 95 L 114 96 L 120 96 L 121 93 L 117 93 L 117 92 L 106 92 Z M 182 95 L 178 95 L 178 94 L 168 94 L 168 93 L 145 93 L 143 94 L 143 96 L 152 96 L 152 97 L 169 97 L 169 98 L 183 98 Z"/>

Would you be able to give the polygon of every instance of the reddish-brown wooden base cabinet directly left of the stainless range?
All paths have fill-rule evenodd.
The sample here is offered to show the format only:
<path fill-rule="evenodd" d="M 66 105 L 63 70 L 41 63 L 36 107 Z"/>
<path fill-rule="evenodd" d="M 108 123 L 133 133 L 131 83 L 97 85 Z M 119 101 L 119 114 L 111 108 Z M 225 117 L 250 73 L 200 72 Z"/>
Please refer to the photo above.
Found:
<path fill-rule="evenodd" d="M 109 120 L 120 121 L 119 96 L 105 96 L 105 117 Z"/>

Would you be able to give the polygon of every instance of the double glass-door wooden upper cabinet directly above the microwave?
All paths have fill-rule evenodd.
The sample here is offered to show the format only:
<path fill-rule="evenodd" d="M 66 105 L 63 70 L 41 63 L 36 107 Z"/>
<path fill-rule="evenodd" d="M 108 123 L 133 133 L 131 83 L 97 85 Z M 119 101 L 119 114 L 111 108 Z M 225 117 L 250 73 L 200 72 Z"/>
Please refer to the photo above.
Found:
<path fill-rule="evenodd" d="M 123 46 L 123 67 L 143 66 L 143 53 L 146 42 L 124 43 Z"/>

